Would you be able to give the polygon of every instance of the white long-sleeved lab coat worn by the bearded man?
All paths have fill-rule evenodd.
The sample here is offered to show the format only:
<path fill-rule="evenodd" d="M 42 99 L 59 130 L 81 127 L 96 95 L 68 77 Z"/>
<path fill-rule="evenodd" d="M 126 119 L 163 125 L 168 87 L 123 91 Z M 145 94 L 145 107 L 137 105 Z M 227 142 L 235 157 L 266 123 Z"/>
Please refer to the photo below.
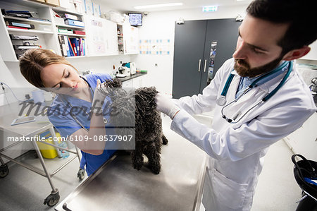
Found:
<path fill-rule="evenodd" d="M 181 110 L 170 127 L 209 155 L 203 194 L 204 207 L 209 211 L 250 210 L 268 147 L 297 130 L 316 111 L 309 88 L 293 68 L 285 84 L 271 99 L 249 111 L 238 123 L 228 123 L 222 118 L 220 110 L 223 106 L 218 106 L 216 99 L 233 65 L 233 59 L 225 61 L 202 95 L 175 100 Z M 280 74 L 251 89 L 226 109 L 225 115 L 232 117 L 237 111 L 244 114 L 252 104 L 271 92 L 283 76 Z M 227 102 L 235 99 L 239 83 L 240 76 L 235 73 Z M 211 128 L 190 115 L 212 109 L 215 111 Z"/>

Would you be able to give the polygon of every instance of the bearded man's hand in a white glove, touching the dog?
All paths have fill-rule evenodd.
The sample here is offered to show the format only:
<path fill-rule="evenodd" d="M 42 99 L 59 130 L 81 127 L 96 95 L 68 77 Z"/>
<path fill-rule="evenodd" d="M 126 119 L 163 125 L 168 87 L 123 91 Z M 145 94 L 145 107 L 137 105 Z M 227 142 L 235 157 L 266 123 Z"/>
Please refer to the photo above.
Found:
<path fill-rule="evenodd" d="M 180 108 L 177 107 L 172 100 L 161 93 L 156 94 L 155 102 L 156 110 L 170 116 L 170 119 L 174 119 L 174 116 L 178 113 L 178 111 L 180 111 Z"/>

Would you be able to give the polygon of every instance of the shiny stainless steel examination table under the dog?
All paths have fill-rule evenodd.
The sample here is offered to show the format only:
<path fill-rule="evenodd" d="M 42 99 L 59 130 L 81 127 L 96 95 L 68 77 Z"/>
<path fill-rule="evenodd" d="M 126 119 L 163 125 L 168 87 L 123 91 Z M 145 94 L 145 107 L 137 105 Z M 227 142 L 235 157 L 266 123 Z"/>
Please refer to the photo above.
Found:
<path fill-rule="evenodd" d="M 173 137 L 177 138 L 168 138 L 162 147 L 160 174 L 146 166 L 133 169 L 130 155 L 119 152 L 55 210 L 199 210 L 206 153 L 180 136 Z"/>

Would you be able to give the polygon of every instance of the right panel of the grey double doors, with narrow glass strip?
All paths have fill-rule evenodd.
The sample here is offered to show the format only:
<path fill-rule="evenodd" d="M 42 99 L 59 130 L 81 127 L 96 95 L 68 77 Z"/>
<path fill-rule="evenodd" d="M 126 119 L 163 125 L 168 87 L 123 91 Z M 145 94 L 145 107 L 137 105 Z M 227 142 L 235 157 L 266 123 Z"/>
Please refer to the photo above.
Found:
<path fill-rule="evenodd" d="M 208 20 L 200 92 L 209 85 L 216 71 L 235 52 L 240 24 L 235 18 Z"/>

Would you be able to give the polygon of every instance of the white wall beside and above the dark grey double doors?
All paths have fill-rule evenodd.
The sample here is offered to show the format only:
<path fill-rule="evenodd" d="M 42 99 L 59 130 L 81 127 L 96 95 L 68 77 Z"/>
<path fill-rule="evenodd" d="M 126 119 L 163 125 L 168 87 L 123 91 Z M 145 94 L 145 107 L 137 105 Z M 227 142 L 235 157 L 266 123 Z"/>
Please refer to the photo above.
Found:
<path fill-rule="evenodd" d="M 204 20 L 219 18 L 235 18 L 238 14 L 245 16 L 244 6 L 220 6 L 215 13 L 202 13 L 201 8 L 192 10 L 151 12 L 143 16 L 143 25 L 139 27 L 140 40 L 170 39 L 171 53 L 169 55 L 145 55 L 132 56 L 137 68 L 148 71 L 148 81 L 155 85 L 159 92 L 170 95 L 173 85 L 173 56 L 175 20 Z M 158 64 L 158 66 L 155 66 Z"/>

